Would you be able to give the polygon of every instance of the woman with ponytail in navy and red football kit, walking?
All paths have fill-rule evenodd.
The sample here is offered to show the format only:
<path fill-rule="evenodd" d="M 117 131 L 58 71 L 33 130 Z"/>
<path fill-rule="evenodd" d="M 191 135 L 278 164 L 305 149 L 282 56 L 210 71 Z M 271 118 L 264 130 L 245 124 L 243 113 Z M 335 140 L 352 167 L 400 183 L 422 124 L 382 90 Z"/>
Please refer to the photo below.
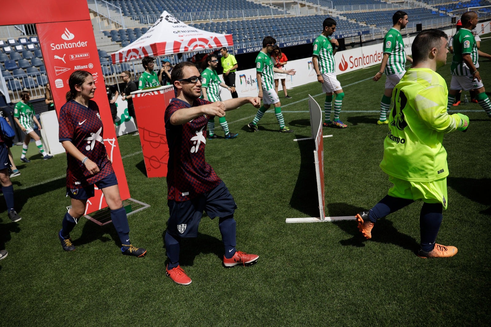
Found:
<path fill-rule="evenodd" d="M 108 203 L 112 223 L 121 241 L 121 252 L 142 257 L 147 251 L 130 243 L 128 218 L 104 145 L 99 107 L 91 100 L 96 90 L 94 78 L 87 71 L 76 70 L 70 75 L 68 84 L 67 103 L 59 114 L 59 141 L 67 152 L 66 188 L 72 207 L 65 214 L 58 232 L 61 246 L 65 251 L 75 250 L 70 232 L 85 213 L 87 199 L 94 196 L 95 184 Z"/>

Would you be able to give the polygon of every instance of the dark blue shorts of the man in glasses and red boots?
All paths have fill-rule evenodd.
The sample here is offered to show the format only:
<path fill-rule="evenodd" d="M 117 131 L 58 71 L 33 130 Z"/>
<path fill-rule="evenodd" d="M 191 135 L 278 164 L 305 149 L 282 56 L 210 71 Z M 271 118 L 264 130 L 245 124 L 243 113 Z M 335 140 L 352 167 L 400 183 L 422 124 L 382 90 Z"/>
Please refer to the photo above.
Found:
<path fill-rule="evenodd" d="M 191 200 L 182 202 L 167 200 L 167 205 L 170 215 L 167 220 L 167 232 L 174 237 L 198 236 L 198 225 L 203 211 L 213 219 L 233 215 L 237 209 L 234 198 L 223 181 L 215 189 Z"/>

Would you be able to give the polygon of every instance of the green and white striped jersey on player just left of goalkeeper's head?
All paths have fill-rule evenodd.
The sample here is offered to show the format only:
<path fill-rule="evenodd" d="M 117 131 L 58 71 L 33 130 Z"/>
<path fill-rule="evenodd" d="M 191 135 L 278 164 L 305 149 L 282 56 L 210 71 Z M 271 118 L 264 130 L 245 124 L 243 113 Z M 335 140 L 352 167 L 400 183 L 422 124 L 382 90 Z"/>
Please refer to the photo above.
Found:
<path fill-rule="evenodd" d="M 389 54 L 387 65 L 383 71 L 385 75 L 402 73 L 406 70 L 406 51 L 401 32 L 392 27 L 383 38 L 383 53 Z"/>

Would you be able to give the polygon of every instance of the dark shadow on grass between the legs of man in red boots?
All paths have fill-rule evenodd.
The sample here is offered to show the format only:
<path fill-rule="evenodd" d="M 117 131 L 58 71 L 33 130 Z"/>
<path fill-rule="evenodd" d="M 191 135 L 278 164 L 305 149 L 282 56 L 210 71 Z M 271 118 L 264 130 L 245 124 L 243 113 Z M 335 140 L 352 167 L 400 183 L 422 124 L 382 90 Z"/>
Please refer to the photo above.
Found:
<path fill-rule="evenodd" d="M 165 231 L 162 234 L 165 248 L 164 237 Z M 219 260 L 223 260 L 223 243 L 216 237 L 198 232 L 197 237 L 182 238 L 179 244 L 181 245 L 181 251 L 179 252 L 179 264 L 181 266 L 192 266 L 194 258 L 202 253 L 213 253 Z"/>

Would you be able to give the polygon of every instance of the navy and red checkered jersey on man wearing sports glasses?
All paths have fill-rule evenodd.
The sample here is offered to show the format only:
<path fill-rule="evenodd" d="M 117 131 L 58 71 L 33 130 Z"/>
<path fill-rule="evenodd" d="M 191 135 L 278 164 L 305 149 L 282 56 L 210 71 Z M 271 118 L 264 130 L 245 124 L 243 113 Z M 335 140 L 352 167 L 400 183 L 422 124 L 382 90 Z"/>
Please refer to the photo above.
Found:
<path fill-rule="evenodd" d="M 196 99 L 192 107 L 210 103 Z M 182 125 L 170 123 L 170 116 L 183 108 L 191 108 L 191 105 L 174 98 L 165 109 L 164 117 L 169 147 L 167 199 L 178 202 L 211 191 L 221 182 L 212 166 L 205 161 L 208 118 L 202 115 Z"/>

